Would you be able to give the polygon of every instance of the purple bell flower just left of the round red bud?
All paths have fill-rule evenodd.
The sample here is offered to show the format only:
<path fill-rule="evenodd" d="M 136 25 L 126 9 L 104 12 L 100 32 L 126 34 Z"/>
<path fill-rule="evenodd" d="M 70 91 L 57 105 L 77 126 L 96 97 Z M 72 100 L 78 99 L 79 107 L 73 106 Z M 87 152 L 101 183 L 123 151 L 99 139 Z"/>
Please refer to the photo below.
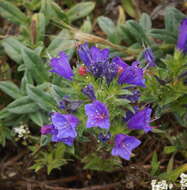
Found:
<path fill-rule="evenodd" d="M 69 64 L 68 56 L 64 52 L 61 52 L 59 57 L 52 58 L 50 60 L 50 66 L 52 67 L 50 72 L 54 72 L 65 79 L 72 80 L 74 74 Z"/>

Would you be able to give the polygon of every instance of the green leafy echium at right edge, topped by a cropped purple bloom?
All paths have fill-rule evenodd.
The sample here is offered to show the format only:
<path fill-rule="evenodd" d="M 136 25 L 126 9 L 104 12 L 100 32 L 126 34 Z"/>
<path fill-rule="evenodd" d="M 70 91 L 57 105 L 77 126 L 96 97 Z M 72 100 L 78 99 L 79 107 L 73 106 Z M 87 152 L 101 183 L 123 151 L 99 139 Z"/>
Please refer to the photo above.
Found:
<path fill-rule="evenodd" d="M 155 108 L 157 117 L 172 113 L 180 125 L 186 126 L 186 53 L 187 53 L 187 19 L 182 19 L 178 28 L 178 40 L 174 55 L 167 55 L 162 63 L 153 67 L 145 75 L 147 88 L 141 92 L 141 101 Z M 151 50 L 146 50 L 144 56 L 155 64 Z M 151 61 L 152 60 L 152 61 Z"/>

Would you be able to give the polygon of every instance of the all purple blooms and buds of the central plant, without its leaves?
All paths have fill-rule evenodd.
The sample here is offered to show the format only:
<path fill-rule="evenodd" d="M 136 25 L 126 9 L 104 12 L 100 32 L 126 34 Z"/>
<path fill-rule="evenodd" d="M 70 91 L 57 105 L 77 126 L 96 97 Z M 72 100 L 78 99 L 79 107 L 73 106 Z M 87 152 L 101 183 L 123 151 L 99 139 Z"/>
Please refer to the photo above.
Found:
<path fill-rule="evenodd" d="M 145 88 L 144 69 L 139 61 L 134 61 L 131 65 L 125 63 L 120 57 L 110 57 L 109 49 L 99 49 L 95 46 L 89 47 L 87 43 L 80 45 L 78 55 L 82 65 L 72 69 L 66 53 L 61 52 L 58 57 L 50 61 L 50 71 L 68 80 L 70 83 L 76 81 L 77 77 L 86 83 L 87 77 L 92 76 L 95 83 L 103 81 L 108 89 L 113 81 L 120 90 L 129 90 L 131 94 L 118 95 L 119 99 L 127 99 L 131 104 L 137 104 L 140 91 L 138 88 Z M 149 66 L 155 66 L 155 59 L 150 49 L 145 52 L 145 59 Z M 78 84 L 77 84 L 78 85 Z M 141 144 L 141 141 L 134 136 L 119 133 L 113 134 L 110 129 L 113 120 L 107 102 L 102 101 L 97 96 L 97 89 L 88 81 L 86 86 L 77 93 L 81 93 L 84 99 L 71 100 L 71 97 L 64 96 L 59 102 L 62 112 L 51 114 L 51 124 L 41 128 L 42 135 L 51 135 L 51 141 L 63 142 L 69 146 L 73 145 L 78 134 L 79 124 L 85 123 L 86 128 L 100 128 L 98 139 L 102 143 L 114 139 L 114 146 L 111 150 L 113 156 L 120 156 L 129 160 L 132 150 Z M 111 96 L 111 94 L 108 94 Z M 85 101 L 86 99 L 86 101 Z M 107 97 L 106 97 L 107 99 Z M 111 102 L 112 104 L 112 102 Z M 84 114 L 87 121 L 84 122 L 76 116 L 76 110 L 84 105 Z M 116 106 L 116 109 L 118 107 Z M 143 109 L 135 106 L 134 112 L 126 112 L 126 118 L 121 118 L 129 130 L 143 130 L 145 133 L 152 130 L 150 126 L 151 108 Z M 81 126 L 82 127 L 82 126 Z M 124 128 L 124 126 L 122 126 Z M 103 130 L 105 131 L 103 133 Z M 110 143 L 113 144 L 113 143 Z"/>

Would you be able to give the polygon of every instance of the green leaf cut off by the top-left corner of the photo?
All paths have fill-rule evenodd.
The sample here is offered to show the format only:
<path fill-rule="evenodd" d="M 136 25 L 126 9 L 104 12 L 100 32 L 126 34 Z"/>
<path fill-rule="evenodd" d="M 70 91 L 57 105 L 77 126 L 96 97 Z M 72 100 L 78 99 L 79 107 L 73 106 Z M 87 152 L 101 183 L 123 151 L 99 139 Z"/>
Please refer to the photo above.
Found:
<path fill-rule="evenodd" d="M 26 24 L 27 17 L 16 6 L 7 1 L 0 1 L 0 14 L 16 24 Z"/>

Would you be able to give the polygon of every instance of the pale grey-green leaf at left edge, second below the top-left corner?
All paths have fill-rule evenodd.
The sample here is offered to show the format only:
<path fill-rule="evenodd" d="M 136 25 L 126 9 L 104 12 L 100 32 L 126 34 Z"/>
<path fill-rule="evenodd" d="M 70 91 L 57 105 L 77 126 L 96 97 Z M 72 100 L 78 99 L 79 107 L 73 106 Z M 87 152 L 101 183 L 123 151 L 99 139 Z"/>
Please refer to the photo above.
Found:
<path fill-rule="evenodd" d="M 4 39 L 2 41 L 2 45 L 10 58 L 16 63 L 21 64 L 21 49 L 25 48 L 25 46 L 14 37 L 8 37 Z"/>

